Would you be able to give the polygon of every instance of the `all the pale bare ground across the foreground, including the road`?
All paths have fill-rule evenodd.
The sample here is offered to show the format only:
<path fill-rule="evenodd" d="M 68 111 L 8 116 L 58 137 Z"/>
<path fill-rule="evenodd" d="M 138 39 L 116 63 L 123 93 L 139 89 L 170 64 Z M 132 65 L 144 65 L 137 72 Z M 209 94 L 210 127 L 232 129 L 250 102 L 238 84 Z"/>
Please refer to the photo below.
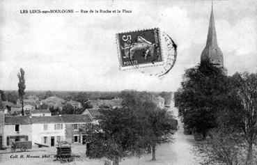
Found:
<path fill-rule="evenodd" d="M 171 108 L 169 111 L 173 111 L 174 116 L 178 116 L 178 110 L 174 107 L 173 102 L 171 102 Z M 173 135 L 173 143 L 164 143 L 157 146 L 156 151 L 156 162 L 150 162 L 151 155 L 143 155 L 141 158 L 130 157 L 125 158 L 120 165 L 129 164 L 140 164 L 140 165 L 154 165 L 154 164 L 164 164 L 164 165 L 194 165 L 197 164 L 192 154 L 192 148 L 194 147 L 194 137 L 191 135 L 183 134 L 183 127 L 178 122 L 178 131 Z M 74 145 L 72 148 L 72 153 L 74 155 L 79 155 L 75 158 L 75 162 L 70 162 L 67 164 L 90 164 L 90 165 L 104 165 L 104 159 L 88 159 L 85 156 L 86 148 L 82 145 Z M 3 164 L 60 164 L 59 161 L 53 161 L 53 156 L 56 154 L 56 148 L 33 148 L 29 152 L 15 152 L 15 153 L 4 153 L 0 154 L 1 163 Z M 10 158 L 11 155 L 17 155 L 19 158 Z M 26 158 L 20 159 L 20 155 L 52 155 L 50 158 Z M 19 159 L 19 161 L 17 161 Z"/>

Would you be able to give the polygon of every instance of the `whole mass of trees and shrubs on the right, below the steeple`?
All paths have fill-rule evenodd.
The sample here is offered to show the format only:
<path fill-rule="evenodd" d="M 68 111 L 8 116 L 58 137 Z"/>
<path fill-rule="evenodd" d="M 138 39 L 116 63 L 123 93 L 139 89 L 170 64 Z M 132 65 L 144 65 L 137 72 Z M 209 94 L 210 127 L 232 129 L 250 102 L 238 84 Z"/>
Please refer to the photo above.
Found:
<path fill-rule="evenodd" d="M 254 164 L 257 74 L 228 77 L 219 68 L 202 63 L 186 70 L 181 85 L 175 106 L 185 129 L 203 139 L 209 135 L 205 145 L 197 148 L 204 164 Z"/>

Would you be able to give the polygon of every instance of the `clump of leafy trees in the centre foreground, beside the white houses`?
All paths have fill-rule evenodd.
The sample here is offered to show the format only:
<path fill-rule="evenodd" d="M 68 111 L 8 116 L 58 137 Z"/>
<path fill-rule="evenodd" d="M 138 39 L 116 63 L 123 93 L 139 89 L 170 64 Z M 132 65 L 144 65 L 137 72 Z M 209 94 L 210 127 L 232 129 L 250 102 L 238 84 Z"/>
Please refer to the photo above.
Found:
<path fill-rule="evenodd" d="M 159 143 L 171 141 L 177 127 L 176 120 L 159 109 L 150 93 L 122 91 L 123 108 L 100 109 L 100 125 L 85 129 L 88 136 L 90 157 L 107 157 L 114 164 L 126 156 L 141 156 L 155 150 Z"/>

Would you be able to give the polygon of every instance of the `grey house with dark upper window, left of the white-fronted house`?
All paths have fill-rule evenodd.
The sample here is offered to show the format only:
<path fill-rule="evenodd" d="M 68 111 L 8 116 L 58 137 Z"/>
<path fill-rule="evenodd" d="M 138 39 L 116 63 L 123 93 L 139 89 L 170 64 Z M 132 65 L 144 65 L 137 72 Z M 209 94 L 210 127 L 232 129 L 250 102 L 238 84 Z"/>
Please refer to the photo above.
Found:
<path fill-rule="evenodd" d="M 31 116 L 4 116 L 3 146 L 10 147 L 12 141 L 31 141 L 31 128 Z"/>

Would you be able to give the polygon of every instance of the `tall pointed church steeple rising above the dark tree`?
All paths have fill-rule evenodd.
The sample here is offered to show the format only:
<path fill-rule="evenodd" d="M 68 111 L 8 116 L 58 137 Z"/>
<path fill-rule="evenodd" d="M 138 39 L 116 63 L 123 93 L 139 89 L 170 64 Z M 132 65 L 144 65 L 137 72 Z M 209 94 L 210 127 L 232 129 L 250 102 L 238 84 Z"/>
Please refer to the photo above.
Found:
<path fill-rule="evenodd" d="M 207 62 L 207 61 L 212 63 L 213 65 L 216 65 L 219 68 L 222 68 L 222 69 L 224 68 L 223 54 L 217 43 L 217 34 L 215 29 L 213 5 L 212 5 L 212 11 L 210 13 L 210 23 L 209 23 L 206 46 L 203 49 L 203 52 L 201 54 L 201 63 Z"/>

